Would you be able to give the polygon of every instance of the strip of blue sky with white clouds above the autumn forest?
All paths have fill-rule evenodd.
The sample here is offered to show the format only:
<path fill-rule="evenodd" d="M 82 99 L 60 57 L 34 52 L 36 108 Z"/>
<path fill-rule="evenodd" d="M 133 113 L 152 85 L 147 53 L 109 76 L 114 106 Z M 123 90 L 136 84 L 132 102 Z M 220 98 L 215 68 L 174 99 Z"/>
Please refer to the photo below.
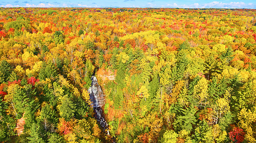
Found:
<path fill-rule="evenodd" d="M 256 9 L 256 0 L 0 0 L 0 7 L 151 7 Z"/>

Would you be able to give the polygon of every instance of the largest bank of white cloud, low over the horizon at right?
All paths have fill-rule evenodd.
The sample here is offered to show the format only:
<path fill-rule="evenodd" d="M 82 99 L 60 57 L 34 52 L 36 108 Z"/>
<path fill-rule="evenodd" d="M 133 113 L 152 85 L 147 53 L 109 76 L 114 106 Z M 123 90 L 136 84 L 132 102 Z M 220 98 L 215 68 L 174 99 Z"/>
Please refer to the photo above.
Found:
<path fill-rule="evenodd" d="M 176 3 L 173 4 L 166 4 L 162 5 L 162 7 L 170 7 L 170 8 L 224 8 L 224 9 L 243 9 L 243 8 L 249 8 L 249 9 L 255 9 L 256 5 L 253 3 L 244 3 L 244 2 L 230 2 L 230 3 L 223 3 L 218 1 L 213 1 L 210 3 L 204 3 L 204 4 L 198 4 L 194 3 L 191 5 L 177 5 Z"/>

